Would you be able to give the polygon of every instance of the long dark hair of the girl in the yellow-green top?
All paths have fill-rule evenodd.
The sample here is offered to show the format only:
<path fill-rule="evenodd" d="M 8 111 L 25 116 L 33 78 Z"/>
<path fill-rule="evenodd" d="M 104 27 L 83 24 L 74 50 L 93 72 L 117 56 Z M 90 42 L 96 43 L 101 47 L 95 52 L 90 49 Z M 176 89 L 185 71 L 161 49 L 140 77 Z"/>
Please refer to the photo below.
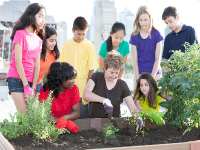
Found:
<path fill-rule="evenodd" d="M 140 99 L 140 97 L 142 97 L 142 100 L 145 100 L 145 96 L 142 93 L 142 91 L 140 90 L 140 80 L 141 79 L 147 80 L 147 82 L 149 84 L 149 94 L 147 96 L 149 107 L 156 109 L 157 108 L 156 93 L 159 89 L 158 89 L 158 85 L 157 85 L 156 81 L 153 79 L 153 77 L 151 76 L 150 73 L 144 72 L 140 75 L 133 98 L 136 98 L 136 95 L 138 94 L 138 97 L 137 97 L 138 100 Z M 158 95 L 160 97 L 164 98 L 163 94 L 161 92 Z"/>

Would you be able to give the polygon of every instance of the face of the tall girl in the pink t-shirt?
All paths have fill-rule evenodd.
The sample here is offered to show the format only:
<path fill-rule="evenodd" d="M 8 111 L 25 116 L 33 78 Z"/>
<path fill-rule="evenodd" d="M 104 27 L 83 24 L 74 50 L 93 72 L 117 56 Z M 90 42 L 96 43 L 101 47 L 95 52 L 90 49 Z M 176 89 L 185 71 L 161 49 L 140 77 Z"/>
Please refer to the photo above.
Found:
<path fill-rule="evenodd" d="M 38 29 L 42 29 L 45 23 L 46 12 L 45 9 L 40 9 L 40 11 L 35 15 L 36 26 Z"/>

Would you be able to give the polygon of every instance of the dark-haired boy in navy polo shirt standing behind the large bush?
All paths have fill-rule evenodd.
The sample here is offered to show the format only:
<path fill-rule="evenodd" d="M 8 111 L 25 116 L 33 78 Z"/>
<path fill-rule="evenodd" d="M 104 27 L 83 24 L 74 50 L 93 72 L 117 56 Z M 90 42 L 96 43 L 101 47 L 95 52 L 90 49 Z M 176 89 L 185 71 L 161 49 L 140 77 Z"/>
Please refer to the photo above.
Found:
<path fill-rule="evenodd" d="M 162 56 L 163 61 L 167 61 L 171 57 L 173 54 L 171 50 L 181 50 L 181 52 L 185 52 L 185 42 L 192 45 L 196 40 L 198 43 L 194 28 L 179 22 L 180 16 L 175 7 L 169 6 L 165 8 L 162 14 L 162 19 L 172 30 L 172 32 L 165 37 Z"/>

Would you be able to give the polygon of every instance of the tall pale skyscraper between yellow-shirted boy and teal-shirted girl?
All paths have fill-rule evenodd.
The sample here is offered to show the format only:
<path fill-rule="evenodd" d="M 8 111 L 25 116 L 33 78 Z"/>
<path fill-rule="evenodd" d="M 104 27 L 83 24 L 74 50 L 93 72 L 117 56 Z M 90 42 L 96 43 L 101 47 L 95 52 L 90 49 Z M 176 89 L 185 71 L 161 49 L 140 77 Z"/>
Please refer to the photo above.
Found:
<path fill-rule="evenodd" d="M 117 10 L 114 0 L 94 0 L 90 40 L 94 43 L 97 58 L 101 44 L 108 38 L 116 21 Z"/>

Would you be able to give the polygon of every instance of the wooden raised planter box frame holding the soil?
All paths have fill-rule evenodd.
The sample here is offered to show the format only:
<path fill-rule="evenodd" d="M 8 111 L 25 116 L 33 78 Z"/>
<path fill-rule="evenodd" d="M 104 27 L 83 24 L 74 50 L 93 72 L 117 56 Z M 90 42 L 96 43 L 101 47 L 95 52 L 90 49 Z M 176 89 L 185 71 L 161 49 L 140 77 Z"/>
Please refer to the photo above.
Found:
<path fill-rule="evenodd" d="M 117 124 L 119 129 L 130 128 L 131 130 L 135 128 L 134 125 L 123 124 L 124 118 L 114 118 L 114 122 Z M 106 123 L 110 123 L 112 120 L 107 118 L 93 118 L 93 119 L 78 119 L 75 120 L 79 127 L 79 131 L 88 130 L 95 128 L 97 131 L 101 131 L 102 127 Z M 151 124 L 149 121 L 146 122 L 145 126 L 147 128 L 157 128 L 155 123 Z M 1 150 L 13 150 L 12 145 L 0 134 L 0 149 Z M 98 148 L 100 149 L 100 148 Z M 115 147 L 115 148 L 103 148 L 102 150 L 200 150 L 200 141 L 190 141 L 182 143 L 172 143 L 172 144 L 157 144 L 157 145 L 144 145 L 144 146 L 126 146 L 126 147 Z"/>

